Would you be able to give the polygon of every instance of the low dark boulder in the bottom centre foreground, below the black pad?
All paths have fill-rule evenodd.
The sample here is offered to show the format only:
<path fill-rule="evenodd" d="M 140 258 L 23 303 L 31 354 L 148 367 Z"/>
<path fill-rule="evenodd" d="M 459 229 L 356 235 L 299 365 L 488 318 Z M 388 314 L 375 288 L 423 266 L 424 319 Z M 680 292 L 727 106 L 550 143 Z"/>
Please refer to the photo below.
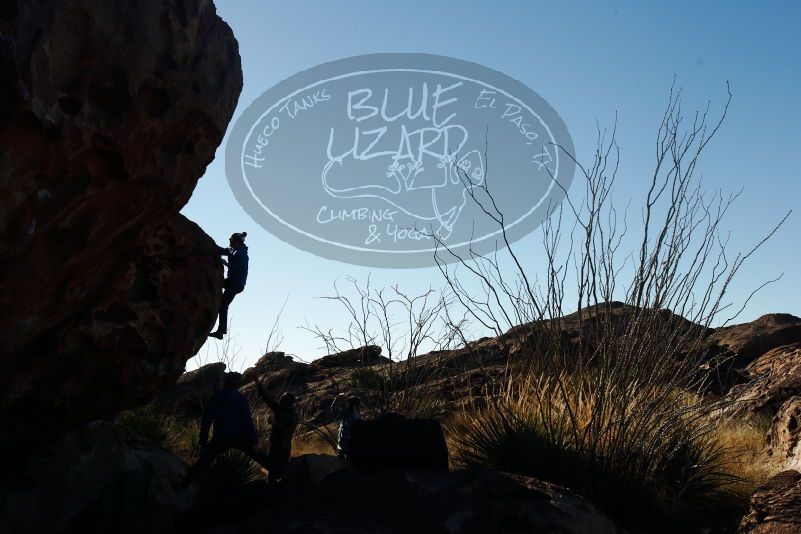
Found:
<path fill-rule="evenodd" d="M 229 510 L 228 517 L 234 513 Z M 592 504 L 533 478 L 403 469 L 336 472 L 302 495 L 239 522 L 235 531 L 618 532 Z"/>

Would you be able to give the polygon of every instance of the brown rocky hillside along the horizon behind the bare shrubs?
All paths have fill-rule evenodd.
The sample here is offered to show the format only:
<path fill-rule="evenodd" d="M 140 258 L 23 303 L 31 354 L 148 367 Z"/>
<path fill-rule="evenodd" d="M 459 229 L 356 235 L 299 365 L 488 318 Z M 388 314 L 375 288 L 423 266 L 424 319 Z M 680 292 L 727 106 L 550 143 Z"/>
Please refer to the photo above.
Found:
<path fill-rule="evenodd" d="M 585 316 L 588 313 L 594 312 L 584 310 Z M 613 304 L 601 313 L 611 313 L 616 320 L 626 321 L 630 311 L 622 304 Z M 590 335 L 591 323 L 584 322 L 580 331 L 578 314 L 564 317 L 559 324 L 570 344 Z M 682 324 L 687 328 L 702 328 L 689 321 Z M 332 421 L 328 408 L 338 392 L 358 390 L 367 395 L 369 407 L 371 400 L 381 401 L 379 390 L 386 387 L 382 380 L 394 376 L 398 377 L 392 384 L 396 389 L 435 391 L 442 400 L 437 415 L 447 417 L 463 406 L 483 402 L 494 385 L 503 381 L 508 363 L 523 350 L 521 339 L 525 340 L 526 331 L 524 325 L 461 349 L 417 356 L 411 363 L 390 363 L 376 346 L 325 355 L 310 363 L 284 352 L 270 352 L 244 371 L 242 391 L 254 406 L 262 404 L 254 387 L 257 376 L 274 394 L 291 391 L 298 397 L 309 426 L 315 426 Z M 722 389 L 722 394 L 733 400 L 730 409 L 776 415 L 776 429 L 770 439 L 776 443 L 773 447 L 776 454 L 787 456 L 788 452 L 780 450 L 794 450 L 795 438 L 780 429 L 788 424 L 794 428 L 789 420 L 798 409 L 792 407 L 801 402 L 801 318 L 769 314 L 749 323 L 705 329 L 703 335 L 702 361 L 720 362 L 719 374 L 725 376 L 725 381 L 713 385 L 715 392 Z M 199 416 L 202 405 L 199 399 L 209 394 L 209 387 L 211 390 L 220 387 L 223 372 L 224 366 L 211 364 L 187 373 L 179 386 L 165 392 L 159 402 L 177 408 L 181 415 Z M 196 400 L 188 402 L 187 397 Z M 181 409 L 181 404 L 192 408 Z M 785 443 L 787 439 L 792 444 Z"/>

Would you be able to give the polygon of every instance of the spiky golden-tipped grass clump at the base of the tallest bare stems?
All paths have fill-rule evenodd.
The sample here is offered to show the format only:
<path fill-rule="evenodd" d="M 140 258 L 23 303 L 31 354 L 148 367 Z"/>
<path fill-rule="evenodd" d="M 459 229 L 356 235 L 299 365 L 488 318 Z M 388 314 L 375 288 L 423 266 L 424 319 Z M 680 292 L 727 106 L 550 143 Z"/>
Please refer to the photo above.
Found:
<path fill-rule="evenodd" d="M 561 386 L 567 380 L 562 377 Z M 661 525 L 666 532 L 701 527 L 710 510 L 736 506 L 738 478 L 726 469 L 726 448 L 705 420 L 684 415 L 681 395 L 640 392 L 625 414 L 593 413 L 598 397 L 568 405 L 557 380 L 519 387 L 452 428 L 457 467 L 491 467 L 570 488 L 626 526 Z M 623 415 L 623 417 L 616 417 Z"/>

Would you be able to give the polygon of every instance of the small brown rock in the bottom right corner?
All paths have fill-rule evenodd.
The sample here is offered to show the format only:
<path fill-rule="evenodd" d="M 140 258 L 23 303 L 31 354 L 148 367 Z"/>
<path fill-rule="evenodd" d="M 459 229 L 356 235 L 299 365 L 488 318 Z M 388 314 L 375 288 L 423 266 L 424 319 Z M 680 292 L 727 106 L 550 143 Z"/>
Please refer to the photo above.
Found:
<path fill-rule="evenodd" d="M 801 532 L 801 473 L 783 471 L 760 486 L 751 509 L 740 523 L 740 534 Z"/>

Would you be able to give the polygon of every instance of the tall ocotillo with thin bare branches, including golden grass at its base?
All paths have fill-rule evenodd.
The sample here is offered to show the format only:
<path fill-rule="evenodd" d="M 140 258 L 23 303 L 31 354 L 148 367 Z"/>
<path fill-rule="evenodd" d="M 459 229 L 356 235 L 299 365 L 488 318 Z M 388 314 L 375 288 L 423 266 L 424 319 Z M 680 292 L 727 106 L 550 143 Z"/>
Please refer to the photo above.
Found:
<path fill-rule="evenodd" d="M 725 362 L 705 359 L 704 339 L 742 311 L 747 300 L 726 300 L 733 280 L 787 216 L 752 248 L 727 248 L 723 221 L 737 195 L 705 193 L 695 170 L 730 100 L 715 121 L 708 109 L 688 120 L 671 90 L 631 226 L 613 202 L 614 128 L 599 130 L 589 165 L 555 147 L 582 183 L 543 220 L 536 269 L 511 247 L 489 182 L 470 189 L 499 225 L 503 255 L 439 243 L 437 263 L 461 311 L 515 357 L 502 398 L 451 432 L 455 463 L 567 485 L 626 525 L 689 531 L 737 515 L 740 481 L 713 416 L 724 401 L 710 395 Z"/>

